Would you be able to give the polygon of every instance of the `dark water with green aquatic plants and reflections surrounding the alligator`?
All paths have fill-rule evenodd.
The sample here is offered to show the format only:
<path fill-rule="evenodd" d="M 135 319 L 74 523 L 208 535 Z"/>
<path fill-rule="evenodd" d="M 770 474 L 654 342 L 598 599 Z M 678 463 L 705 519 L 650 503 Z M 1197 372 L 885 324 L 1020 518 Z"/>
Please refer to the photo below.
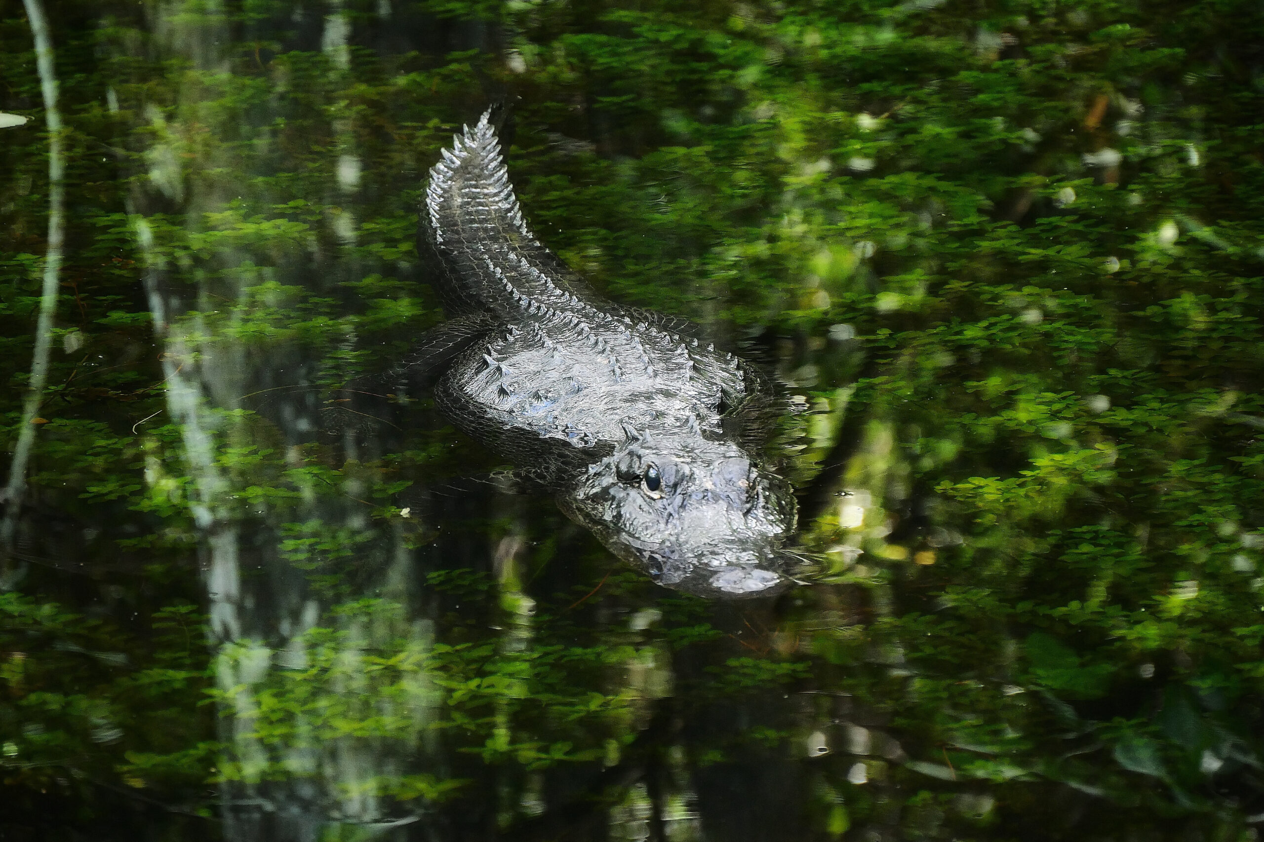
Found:
<path fill-rule="evenodd" d="M 1258 4 L 3 11 L 4 842 L 1258 838 Z M 494 100 L 550 248 L 805 408 L 801 587 L 324 431 Z"/>

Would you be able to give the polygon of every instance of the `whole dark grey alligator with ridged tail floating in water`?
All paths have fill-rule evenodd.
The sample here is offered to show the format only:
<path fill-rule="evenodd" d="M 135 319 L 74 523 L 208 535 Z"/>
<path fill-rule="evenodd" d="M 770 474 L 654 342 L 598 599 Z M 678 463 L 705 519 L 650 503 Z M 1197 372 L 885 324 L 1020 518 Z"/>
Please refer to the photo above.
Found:
<path fill-rule="evenodd" d="M 787 484 L 737 434 L 758 374 L 684 320 L 603 301 L 527 229 L 489 110 L 430 171 L 418 250 L 449 321 L 434 370 L 454 424 L 551 488 L 560 508 L 669 588 L 765 595 L 789 580 Z"/>

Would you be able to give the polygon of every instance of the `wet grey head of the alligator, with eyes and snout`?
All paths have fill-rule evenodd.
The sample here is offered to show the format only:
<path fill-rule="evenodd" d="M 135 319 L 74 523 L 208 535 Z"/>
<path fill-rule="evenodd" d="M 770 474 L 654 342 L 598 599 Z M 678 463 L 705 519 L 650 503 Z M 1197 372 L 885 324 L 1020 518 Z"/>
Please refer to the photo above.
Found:
<path fill-rule="evenodd" d="M 559 496 L 566 515 L 659 584 L 702 597 L 758 597 L 789 584 L 789 485 L 731 441 L 693 434 L 627 439 Z"/>

